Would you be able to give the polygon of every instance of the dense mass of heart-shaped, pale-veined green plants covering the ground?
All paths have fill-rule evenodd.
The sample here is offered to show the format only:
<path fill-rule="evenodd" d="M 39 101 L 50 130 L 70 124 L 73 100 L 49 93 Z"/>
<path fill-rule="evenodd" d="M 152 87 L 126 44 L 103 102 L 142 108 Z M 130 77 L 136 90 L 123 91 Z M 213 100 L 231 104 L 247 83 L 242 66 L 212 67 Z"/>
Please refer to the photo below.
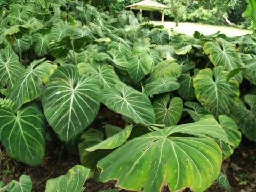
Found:
<path fill-rule="evenodd" d="M 82 1 L 0 3 L 1 144 L 39 166 L 54 133 L 81 160 L 42 190 L 84 191 L 95 173 L 130 191 L 205 191 L 227 183 L 241 132 L 256 140 L 256 36 L 170 35 Z M 98 123 L 103 109 L 122 123 Z M 0 190 L 32 186 L 21 175 Z"/>

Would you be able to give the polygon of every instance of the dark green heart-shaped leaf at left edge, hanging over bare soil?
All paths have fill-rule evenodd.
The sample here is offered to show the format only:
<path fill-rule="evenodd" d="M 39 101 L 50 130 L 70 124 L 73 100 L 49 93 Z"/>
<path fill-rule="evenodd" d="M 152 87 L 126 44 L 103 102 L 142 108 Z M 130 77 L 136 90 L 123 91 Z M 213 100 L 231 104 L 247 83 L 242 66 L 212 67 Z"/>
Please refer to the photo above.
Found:
<path fill-rule="evenodd" d="M 24 106 L 18 111 L 0 108 L 0 141 L 10 157 L 31 166 L 42 162 L 45 152 L 44 115 L 36 105 Z"/>

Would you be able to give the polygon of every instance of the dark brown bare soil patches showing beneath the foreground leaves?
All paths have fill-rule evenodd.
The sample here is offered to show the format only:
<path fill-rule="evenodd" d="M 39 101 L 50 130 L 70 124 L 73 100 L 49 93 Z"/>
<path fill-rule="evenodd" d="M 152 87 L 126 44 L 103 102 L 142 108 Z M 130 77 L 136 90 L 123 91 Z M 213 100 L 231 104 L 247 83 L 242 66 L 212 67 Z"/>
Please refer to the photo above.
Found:
<path fill-rule="evenodd" d="M 122 121 L 118 120 L 121 119 L 120 116 L 115 116 L 116 114 L 108 113 L 108 111 L 102 112 L 107 115 L 98 117 L 96 125 L 99 122 L 102 124 L 107 122 L 117 126 L 123 124 Z M 71 167 L 79 164 L 79 157 L 69 153 L 54 134 L 51 135 L 53 137 L 52 141 L 47 142 L 46 155 L 43 163 L 38 167 L 31 167 L 10 159 L 3 146 L 0 145 L 0 181 L 8 183 L 12 179 L 18 180 L 21 174 L 27 174 L 33 180 L 33 191 L 41 192 L 44 191 L 48 179 L 66 174 Z M 256 143 L 243 138 L 241 145 L 235 150 L 234 154 L 223 162 L 222 171 L 227 174 L 231 191 L 256 191 Z M 111 182 L 103 184 L 93 179 L 89 179 L 85 185 L 86 192 L 114 188 L 114 184 Z M 213 191 L 221 192 L 225 189 L 219 186 L 218 183 L 214 183 L 207 192 Z"/>

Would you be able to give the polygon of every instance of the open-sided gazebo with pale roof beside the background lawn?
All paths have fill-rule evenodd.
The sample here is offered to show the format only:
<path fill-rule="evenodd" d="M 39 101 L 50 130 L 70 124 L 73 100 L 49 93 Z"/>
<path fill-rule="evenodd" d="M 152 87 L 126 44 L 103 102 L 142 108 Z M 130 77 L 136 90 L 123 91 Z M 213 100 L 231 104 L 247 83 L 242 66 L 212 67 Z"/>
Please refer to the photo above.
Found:
<path fill-rule="evenodd" d="M 140 10 L 142 14 L 142 10 L 150 11 L 150 17 L 153 16 L 153 11 L 161 11 L 162 10 L 162 22 L 164 21 L 164 10 L 169 8 L 166 5 L 163 5 L 161 3 L 157 3 L 151 0 L 143 0 L 138 3 L 126 6 L 125 8 Z"/>

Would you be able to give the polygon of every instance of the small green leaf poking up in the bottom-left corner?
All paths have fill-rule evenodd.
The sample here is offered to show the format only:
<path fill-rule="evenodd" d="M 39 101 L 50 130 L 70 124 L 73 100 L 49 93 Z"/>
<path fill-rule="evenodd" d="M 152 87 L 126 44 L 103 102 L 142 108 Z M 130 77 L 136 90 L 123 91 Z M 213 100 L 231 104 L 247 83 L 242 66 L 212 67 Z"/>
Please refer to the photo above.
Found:
<path fill-rule="evenodd" d="M 30 176 L 21 175 L 20 181 L 12 180 L 3 188 L 0 187 L 1 192 L 31 192 L 32 191 L 32 181 Z"/>

